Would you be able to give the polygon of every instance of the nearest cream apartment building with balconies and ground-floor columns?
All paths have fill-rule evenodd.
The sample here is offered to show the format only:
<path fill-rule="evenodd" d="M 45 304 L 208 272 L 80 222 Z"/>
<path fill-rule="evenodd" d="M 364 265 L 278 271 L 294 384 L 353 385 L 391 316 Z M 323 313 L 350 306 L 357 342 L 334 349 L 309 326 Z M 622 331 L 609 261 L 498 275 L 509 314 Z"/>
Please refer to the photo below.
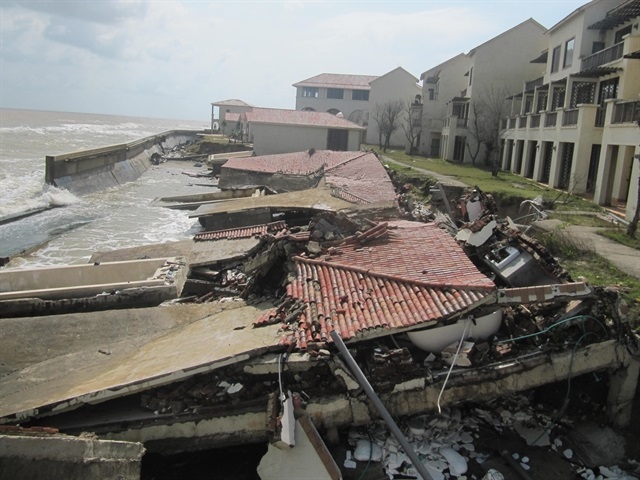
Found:
<path fill-rule="evenodd" d="M 593 0 L 550 28 L 547 49 L 512 97 L 502 168 L 601 205 L 637 203 L 640 0 Z"/>

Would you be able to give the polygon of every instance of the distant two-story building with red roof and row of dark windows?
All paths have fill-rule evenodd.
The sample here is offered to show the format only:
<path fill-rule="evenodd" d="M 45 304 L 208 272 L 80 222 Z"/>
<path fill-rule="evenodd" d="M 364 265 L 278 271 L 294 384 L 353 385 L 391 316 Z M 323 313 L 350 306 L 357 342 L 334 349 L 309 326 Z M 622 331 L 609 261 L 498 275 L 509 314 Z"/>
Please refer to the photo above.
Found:
<path fill-rule="evenodd" d="M 341 114 L 347 120 L 366 126 L 368 123 L 372 75 L 321 73 L 298 83 L 296 110 Z"/>

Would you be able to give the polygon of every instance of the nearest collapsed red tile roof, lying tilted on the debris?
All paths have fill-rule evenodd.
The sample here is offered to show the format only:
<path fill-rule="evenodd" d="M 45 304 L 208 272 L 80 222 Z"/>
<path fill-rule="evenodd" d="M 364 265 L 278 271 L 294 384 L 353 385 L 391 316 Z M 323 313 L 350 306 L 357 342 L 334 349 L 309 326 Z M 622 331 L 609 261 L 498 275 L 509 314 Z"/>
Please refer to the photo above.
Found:
<path fill-rule="evenodd" d="M 288 311 L 265 312 L 256 325 L 283 322 L 281 343 L 305 349 L 385 329 L 435 324 L 471 308 L 495 290 L 461 247 L 435 224 L 390 222 L 361 246 L 345 242 L 332 255 L 296 257 L 287 285 Z M 365 232 L 365 236 L 368 232 Z M 302 307 L 302 308 L 300 308 Z M 286 319 L 286 323 L 285 323 Z"/>

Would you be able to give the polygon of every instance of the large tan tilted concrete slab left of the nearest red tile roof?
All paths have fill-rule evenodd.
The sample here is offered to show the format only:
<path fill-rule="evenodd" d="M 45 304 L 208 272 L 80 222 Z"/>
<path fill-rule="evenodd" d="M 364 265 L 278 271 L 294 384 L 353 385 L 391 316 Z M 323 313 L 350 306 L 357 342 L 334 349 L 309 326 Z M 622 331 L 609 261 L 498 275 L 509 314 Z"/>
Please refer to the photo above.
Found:
<path fill-rule="evenodd" d="M 49 411 L 59 413 L 84 403 L 130 395 L 260 355 L 275 347 L 279 340 L 277 325 L 252 328 L 252 322 L 269 306 L 247 306 L 242 301 L 202 305 L 204 310 L 196 310 L 202 316 L 187 312 L 180 320 L 180 309 L 185 307 L 181 305 L 149 309 L 140 317 L 138 312 L 133 313 L 130 317 L 133 321 L 139 318 L 148 323 L 156 313 L 162 315 L 164 308 L 171 308 L 164 321 L 170 325 L 173 320 L 175 326 L 134 338 L 123 333 L 116 335 L 114 340 L 103 333 L 100 348 L 96 348 L 96 342 L 86 339 L 80 341 L 87 347 L 84 349 L 65 352 L 60 346 L 58 356 L 30 364 L 0 379 L 0 418 L 19 421 L 36 413 L 40 416 Z M 105 332 L 111 330 L 107 326 L 112 321 L 120 323 L 120 328 L 127 328 L 123 325 L 126 322 L 114 320 L 120 315 L 120 311 L 107 312 L 99 317 Z M 52 325 L 68 321 L 56 317 L 48 319 Z M 72 317 L 72 321 L 78 320 Z M 17 337 L 12 341 L 17 345 L 29 344 L 33 338 L 29 326 L 33 322 L 42 325 L 43 319 L 23 319 L 21 322 L 24 323 L 20 326 L 13 324 Z M 95 323 L 94 327 L 97 327 Z M 139 326 L 134 328 L 141 331 Z M 56 337 L 54 328 L 50 334 Z M 78 332 L 78 335 L 83 334 Z M 40 348 L 36 350 L 40 355 L 44 354 Z M 6 350 L 2 348 L 2 351 Z"/>

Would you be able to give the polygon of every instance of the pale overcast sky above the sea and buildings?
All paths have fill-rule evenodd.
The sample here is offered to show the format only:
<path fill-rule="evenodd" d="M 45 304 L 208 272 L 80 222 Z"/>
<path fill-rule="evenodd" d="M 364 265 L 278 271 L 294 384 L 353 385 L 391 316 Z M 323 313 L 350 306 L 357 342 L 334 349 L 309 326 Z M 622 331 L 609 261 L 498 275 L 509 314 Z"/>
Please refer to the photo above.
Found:
<path fill-rule="evenodd" d="M 416 77 L 587 0 L 1 0 L 0 106 L 208 120 L 239 98 L 295 108 L 319 73 Z"/>

